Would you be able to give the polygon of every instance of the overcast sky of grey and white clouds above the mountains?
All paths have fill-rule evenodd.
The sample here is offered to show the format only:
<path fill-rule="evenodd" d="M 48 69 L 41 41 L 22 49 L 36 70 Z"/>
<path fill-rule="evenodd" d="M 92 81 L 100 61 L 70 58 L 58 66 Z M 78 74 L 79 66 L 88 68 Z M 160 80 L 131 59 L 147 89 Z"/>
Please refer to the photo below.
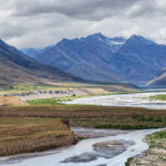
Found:
<path fill-rule="evenodd" d="M 95 32 L 166 44 L 166 0 L 0 0 L 0 38 L 19 49 Z"/>

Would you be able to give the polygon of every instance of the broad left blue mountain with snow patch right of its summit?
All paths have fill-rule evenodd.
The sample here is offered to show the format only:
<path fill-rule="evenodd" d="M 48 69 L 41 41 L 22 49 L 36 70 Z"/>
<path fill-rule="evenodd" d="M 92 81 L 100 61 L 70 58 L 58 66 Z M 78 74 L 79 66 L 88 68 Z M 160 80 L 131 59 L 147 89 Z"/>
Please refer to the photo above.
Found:
<path fill-rule="evenodd" d="M 110 39 L 101 33 L 87 38 L 63 39 L 37 60 L 87 80 L 120 82 L 110 68 L 113 53 L 124 43 L 123 38 Z"/>

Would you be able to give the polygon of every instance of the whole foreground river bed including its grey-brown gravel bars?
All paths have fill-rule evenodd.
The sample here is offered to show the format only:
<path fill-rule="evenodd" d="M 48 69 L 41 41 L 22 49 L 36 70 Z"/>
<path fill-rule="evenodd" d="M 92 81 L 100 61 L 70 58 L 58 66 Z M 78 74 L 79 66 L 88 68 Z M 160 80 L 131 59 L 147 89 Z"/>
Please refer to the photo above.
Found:
<path fill-rule="evenodd" d="M 2 160 L 1 166 L 124 166 L 128 157 L 141 155 L 148 148 L 142 139 L 159 129 L 117 131 L 72 128 L 85 136 L 76 145 L 55 151 L 25 154 Z"/>

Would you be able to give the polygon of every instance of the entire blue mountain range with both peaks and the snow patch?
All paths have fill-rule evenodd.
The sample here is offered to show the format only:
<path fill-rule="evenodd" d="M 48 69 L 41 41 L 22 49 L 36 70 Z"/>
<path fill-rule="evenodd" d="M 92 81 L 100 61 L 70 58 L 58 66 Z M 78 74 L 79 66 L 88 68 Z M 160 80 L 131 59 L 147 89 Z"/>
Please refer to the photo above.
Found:
<path fill-rule="evenodd" d="M 38 61 L 87 80 L 143 85 L 166 66 L 166 45 L 141 35 L 63 39 L 33 55 Z"/>

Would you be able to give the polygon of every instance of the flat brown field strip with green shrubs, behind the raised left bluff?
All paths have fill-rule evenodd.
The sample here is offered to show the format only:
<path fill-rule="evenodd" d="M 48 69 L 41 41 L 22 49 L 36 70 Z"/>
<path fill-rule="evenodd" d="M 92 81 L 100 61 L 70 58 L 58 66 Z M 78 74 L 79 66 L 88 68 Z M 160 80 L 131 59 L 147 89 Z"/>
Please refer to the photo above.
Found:
<path fill-rule="evenodd" d="M 166 111 L 104 106 L 1 107 L 0 116 L 66 118 L 72 127 L 141 129 L 166 127 Z"/>

